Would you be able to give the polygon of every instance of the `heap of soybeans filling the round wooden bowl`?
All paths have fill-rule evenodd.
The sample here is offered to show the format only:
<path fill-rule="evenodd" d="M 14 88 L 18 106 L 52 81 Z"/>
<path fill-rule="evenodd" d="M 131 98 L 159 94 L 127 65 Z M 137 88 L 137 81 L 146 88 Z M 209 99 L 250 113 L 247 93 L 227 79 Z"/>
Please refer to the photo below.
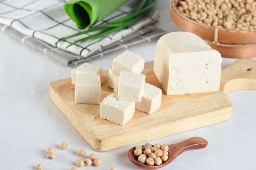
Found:
<path fill-rule="evenodd" d="M 180 0 L 177 10 L 206 26 L 256 31 L 256 0 Z"/>

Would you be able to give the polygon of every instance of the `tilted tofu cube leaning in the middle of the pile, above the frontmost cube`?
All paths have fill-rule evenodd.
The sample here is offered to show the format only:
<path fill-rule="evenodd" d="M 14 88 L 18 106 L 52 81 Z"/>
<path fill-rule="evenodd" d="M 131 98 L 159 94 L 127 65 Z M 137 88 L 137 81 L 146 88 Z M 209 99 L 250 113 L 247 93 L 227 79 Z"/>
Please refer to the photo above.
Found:
<path fill-rule="evenodd" d="M 146 75 L 121 71 L 118 81 L 118 97 L 130 102 L 141 102 Z"/>

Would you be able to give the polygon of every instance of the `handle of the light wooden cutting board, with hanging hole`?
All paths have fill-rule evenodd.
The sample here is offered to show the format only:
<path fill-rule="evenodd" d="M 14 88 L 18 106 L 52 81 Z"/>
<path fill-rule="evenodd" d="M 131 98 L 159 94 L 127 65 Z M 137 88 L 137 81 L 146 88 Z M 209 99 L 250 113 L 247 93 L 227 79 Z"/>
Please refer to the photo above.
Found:
<path fill-rule="evenodd" d="M 220 91 L 256 90 L 256 60 L 238 59 L 221 71 Z"/>

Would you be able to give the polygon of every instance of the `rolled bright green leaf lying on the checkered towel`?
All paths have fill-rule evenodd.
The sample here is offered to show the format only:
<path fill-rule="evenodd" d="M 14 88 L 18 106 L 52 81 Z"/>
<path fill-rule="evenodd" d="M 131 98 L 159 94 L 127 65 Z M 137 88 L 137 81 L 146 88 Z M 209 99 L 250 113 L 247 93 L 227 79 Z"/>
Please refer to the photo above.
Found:
<path fill-rule="evenodd" d="M 117 10 L 128 0 L 71 0 L 64 9 L 78 29 L 93 26 Z"/>

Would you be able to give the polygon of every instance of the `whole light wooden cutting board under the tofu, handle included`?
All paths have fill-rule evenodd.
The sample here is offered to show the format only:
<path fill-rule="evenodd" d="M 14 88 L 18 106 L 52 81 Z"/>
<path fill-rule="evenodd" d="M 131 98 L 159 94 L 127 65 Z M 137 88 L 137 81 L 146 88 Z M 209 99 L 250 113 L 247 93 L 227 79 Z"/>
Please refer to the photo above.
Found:
<path fill-rule="evenodd" d="M 153 72 L 153 62 L 145 63 L 142 74 L 146 75 L 146 82 L 162 88 Z M 103 76 L 101 101 L 113 93 L 107 86 L 108 71 Z M 161 107 L 155 113 L 135 110 L 134 117 L 124 126 L 99 118 L 98 104 L 74 103 L 74 89 L 71 78 L 52 82 L 50 98 L 92 148 L 103 152 L 229 119 L 231 102 L 225 93 L 256 89 L 256 60 L 239 59 L 223 68 L 219 92 L 167 96 L 163 91 Z"/>

